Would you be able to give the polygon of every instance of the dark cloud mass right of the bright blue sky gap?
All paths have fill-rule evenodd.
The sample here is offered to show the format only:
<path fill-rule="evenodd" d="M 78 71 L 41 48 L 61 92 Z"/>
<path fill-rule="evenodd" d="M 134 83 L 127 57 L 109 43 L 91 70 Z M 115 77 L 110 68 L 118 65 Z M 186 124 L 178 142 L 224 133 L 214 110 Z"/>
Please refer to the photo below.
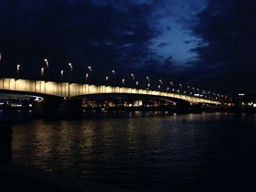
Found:
<path fill-rule="evenodd" d="M 192 49 L 198 58 L 192 70 L 197 83 L 228 92 L 256 92 L 255 7 L 256 1 L 250 0 L 209 0 L 197 15 L 191 28 L 203 42 Z"/>

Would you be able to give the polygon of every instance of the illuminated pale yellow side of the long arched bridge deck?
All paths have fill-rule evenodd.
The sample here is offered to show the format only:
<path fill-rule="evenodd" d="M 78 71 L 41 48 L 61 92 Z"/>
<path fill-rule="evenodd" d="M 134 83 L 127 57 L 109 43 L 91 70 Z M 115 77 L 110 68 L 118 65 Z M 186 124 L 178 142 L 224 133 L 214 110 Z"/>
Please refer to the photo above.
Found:
<path fill-rule="evenodd" d="M 36 96 L 56 96 L 60 98 L 75 98 L 89 94 L 127 93 L 157 96 L 159 98 L 181 99 L 190 104 L 221 104 L 219 101 L 205 99 L 202 97 L 189 96 L 167 91 L 157 91 L 142 88 L 131 88 L 125 86 L 96 85 L 79 82 L 56 82 L 46 80 L 28 80 L 15 78 L 0 78 L 0 91 L 24 93 Z"/>

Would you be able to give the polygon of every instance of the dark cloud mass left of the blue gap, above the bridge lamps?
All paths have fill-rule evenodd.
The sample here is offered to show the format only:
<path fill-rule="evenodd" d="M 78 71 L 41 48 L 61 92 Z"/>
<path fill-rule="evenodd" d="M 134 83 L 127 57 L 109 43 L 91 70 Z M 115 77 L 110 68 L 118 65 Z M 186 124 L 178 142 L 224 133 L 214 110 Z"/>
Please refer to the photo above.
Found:
<path fill-rule="evenodd" d="M 68 70 L 68 62 L 78 78 L 94 66 L 94 80 L 129 69 L 151 55 L 151 39 L 160 34 L 150 22 L 152 8 L 132 1 L 1 1 L 0 50 L 8 64 L 2 69 L 12 74 L 20 64 L 20 75 L 34 77 L 43 58 L 52 76 Z"/>

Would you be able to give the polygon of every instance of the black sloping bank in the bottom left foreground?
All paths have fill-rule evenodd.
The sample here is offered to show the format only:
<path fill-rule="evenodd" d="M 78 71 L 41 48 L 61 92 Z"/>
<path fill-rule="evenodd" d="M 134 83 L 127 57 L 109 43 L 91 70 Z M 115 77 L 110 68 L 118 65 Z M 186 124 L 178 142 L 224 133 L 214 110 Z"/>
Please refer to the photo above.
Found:
<path fill-rule="evenodd" d="M 0 180 L 0 191 L 121 191 L 108 185 L 12 163 L 0 164 Z"/>

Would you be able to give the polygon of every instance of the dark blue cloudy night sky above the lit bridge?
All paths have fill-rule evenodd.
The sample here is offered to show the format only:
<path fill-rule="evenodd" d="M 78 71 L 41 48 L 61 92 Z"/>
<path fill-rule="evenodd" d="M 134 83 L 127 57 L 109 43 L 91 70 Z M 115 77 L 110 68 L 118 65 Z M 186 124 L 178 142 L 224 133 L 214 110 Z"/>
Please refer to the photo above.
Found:
<path fill-rule="evenodd" d="M 0 75 L 256 93 L 254 0 L 1 0 Z M 115 70 L 113 76 L 111 71 Z"/>

